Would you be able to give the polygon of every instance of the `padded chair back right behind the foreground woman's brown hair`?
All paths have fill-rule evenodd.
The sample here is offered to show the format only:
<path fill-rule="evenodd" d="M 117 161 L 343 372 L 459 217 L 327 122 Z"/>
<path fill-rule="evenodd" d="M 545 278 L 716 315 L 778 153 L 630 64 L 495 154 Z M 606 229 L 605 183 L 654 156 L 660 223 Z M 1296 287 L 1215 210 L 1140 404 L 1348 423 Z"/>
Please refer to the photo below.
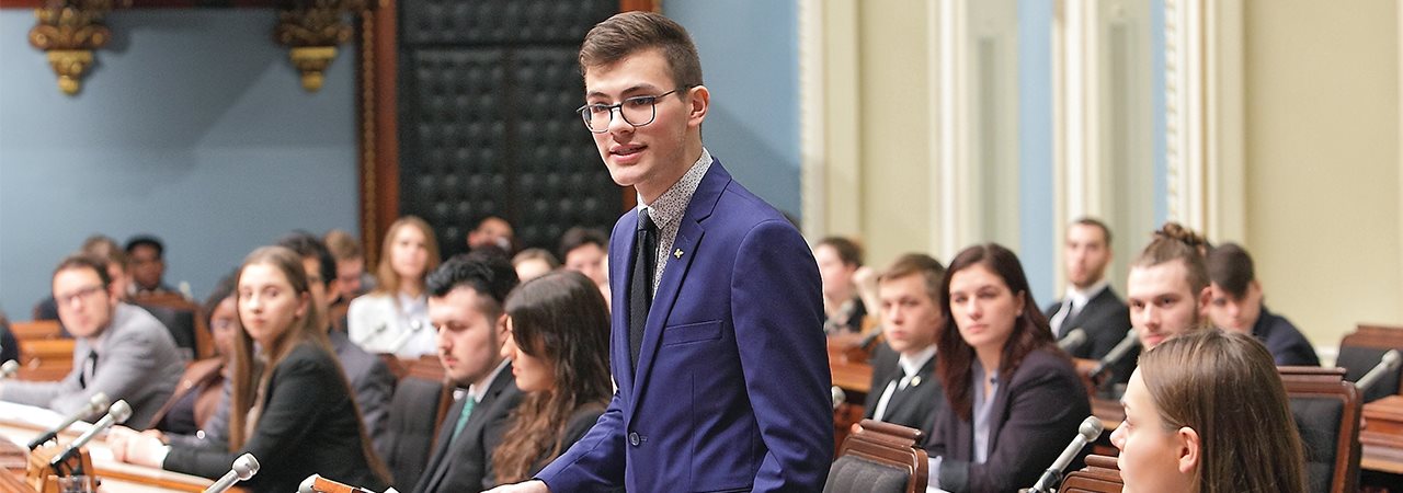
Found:
<path fill-rule="evenodd" d="M 1360 483 L 1360 391 L 1344 368 L 1278 367 L 1306 452 L 1308 492 L 1355 492 Z"/>

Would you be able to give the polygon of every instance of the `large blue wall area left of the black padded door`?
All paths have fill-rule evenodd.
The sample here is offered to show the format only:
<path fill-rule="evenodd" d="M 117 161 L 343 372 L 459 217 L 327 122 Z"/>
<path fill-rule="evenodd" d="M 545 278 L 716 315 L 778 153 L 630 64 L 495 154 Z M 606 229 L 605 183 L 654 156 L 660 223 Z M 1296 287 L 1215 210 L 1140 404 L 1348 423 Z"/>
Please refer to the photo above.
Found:
<path fill-rule="evenodd" d="M 171 284 L 203 297 L 254 246 L 293 228 L 356 228 L 354 60 L 304 92 L 272 10 L 108 15 L 83 92 L 55 85 L 0 10 L 0 308 L 28 319 L 53 265 L 94 232 L 167 244 Z"/>

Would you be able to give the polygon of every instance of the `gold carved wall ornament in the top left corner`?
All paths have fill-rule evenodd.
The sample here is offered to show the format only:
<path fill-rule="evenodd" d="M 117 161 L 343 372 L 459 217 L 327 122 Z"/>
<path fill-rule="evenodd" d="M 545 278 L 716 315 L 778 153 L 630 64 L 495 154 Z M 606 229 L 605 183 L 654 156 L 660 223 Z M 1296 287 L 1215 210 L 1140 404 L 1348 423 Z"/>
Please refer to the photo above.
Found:
<path fill-rule="evenodd" d="M 29 45 L 48 53 L 65 94 L 79 92 L 83 76 L 93 66 L 93 50 L 105 46 L 112 36 L 102 25 L 102 15 L 115 3 L 118 0 L 48 0 L 34 10 L 39 22 L 29 29 Z"/>

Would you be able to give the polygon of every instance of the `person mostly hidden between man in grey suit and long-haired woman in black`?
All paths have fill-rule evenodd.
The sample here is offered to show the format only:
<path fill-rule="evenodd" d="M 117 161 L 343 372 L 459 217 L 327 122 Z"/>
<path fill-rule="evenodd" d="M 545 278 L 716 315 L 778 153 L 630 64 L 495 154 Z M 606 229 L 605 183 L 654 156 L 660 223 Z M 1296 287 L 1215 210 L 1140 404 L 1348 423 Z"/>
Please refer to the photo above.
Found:
<path fill-rule="evenodd" d="M 224 382 L 229 361 L 234 357 L 234 343 L 243 326 L 239 325 L 239 298 L 234 296 L 234 276 L 226 276 L 205 301 L 206 321 L 215 340 L 215 357 L 194 361 L 170 401 L 152 417 L 150 430 L 191 436 L 205 427 L 224 403 Z"/>

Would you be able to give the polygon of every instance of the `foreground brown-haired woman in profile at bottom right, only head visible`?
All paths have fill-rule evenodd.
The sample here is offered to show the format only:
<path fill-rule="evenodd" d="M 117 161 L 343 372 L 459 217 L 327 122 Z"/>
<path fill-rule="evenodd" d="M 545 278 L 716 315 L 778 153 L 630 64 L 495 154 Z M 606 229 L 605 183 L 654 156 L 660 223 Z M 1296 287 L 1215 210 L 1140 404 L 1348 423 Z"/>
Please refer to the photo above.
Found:
<path fill-rule="evenodd" d="M 1146 352 L 1111 433 L 1125 492 L 1305 493 L 1301 437 L 1273 357 L 1243 333 L 1174 336 Z"/>

